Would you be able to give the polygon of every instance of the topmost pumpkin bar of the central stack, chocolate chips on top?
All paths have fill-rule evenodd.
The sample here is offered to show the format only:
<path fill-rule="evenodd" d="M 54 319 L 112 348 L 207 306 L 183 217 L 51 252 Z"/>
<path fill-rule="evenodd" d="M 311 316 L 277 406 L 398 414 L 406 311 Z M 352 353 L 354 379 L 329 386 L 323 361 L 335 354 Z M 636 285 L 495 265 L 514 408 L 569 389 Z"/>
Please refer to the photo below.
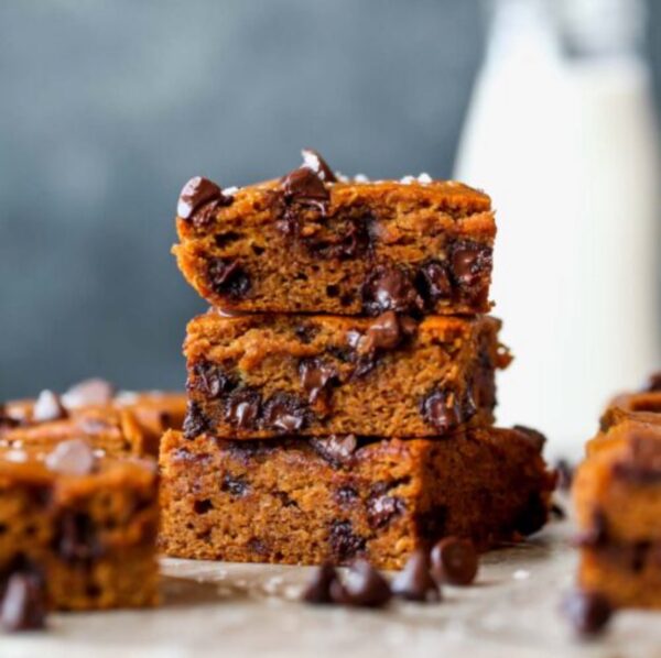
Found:
<path fill-rule="evenodd" d="M 183 188 L 173 253 L 212 305 L 237 311 L 488 311 L 489 197 L 426 176 L 338 179 L 314 151 L 281 179 Z"/>

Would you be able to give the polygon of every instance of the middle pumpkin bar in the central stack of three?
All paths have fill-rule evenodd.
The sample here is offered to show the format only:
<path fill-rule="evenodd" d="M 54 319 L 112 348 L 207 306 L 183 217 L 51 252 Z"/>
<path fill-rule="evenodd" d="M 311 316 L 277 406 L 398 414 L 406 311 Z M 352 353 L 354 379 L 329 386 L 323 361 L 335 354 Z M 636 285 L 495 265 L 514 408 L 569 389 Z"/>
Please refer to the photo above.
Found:
<path fill-rule="evenodd" d="M 185 435 L 437 436 L 489 425 L 500 321 L 246 315 L 188 323 Z"/>

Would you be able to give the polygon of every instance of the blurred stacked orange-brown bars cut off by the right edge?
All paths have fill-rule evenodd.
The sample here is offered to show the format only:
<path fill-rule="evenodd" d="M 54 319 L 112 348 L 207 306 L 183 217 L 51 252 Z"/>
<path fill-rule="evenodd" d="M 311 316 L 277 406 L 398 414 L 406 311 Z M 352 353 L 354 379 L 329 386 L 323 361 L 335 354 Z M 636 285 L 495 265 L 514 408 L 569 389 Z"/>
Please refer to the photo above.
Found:
<path fill-rule="evenodd" d="M 661 424 L 641 415 L 597 435 L 576 473 L 578 580 L 613 605 L 661 607 Z"/>

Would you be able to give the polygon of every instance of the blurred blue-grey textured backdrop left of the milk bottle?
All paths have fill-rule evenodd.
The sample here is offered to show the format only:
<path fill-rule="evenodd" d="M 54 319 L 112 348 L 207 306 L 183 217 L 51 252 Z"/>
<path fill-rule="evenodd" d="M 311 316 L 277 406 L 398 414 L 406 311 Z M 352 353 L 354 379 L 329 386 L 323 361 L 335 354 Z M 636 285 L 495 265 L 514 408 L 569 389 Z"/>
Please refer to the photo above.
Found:
<path fill-rule="evenodd" d="M 469 0 L 1 3 L 0 399 L 90 374 L 183 384 L 204 304 L 169 252 L 192 175 L 277 176 L 303 145 L 347 173 L 449 175 L 480 17 Z"/>

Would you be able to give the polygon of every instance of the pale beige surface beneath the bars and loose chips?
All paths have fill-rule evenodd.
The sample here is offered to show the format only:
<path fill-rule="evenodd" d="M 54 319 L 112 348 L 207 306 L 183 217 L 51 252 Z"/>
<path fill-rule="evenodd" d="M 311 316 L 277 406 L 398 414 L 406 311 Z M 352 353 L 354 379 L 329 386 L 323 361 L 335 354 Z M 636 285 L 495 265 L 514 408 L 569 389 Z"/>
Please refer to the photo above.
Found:
<path fill-rule="evenodd" d="M 626 612 L 604 639 L 575 640 L 559 615 L 572 583 L 567 524 L 483 560 L 479 584 L 438 605 L 388 611 L 297 601 L 307 570 L 164 560 L 156 611 L 53 615 L 47 633 L 1 636 L 2 658 L 195 656 L 661 657 L 661 615 Z"/>

